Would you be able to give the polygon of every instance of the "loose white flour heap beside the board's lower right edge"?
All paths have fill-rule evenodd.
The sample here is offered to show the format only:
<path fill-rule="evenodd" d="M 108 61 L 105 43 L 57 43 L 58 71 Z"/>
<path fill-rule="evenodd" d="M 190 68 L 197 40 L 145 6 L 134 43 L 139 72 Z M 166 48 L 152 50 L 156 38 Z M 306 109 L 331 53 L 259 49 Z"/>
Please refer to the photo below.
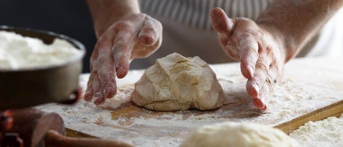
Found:
<path fill-rule="evenodd" d="M 343 147 L 343 115 L 309 121 L 289 134 L 302 147 Z"/>

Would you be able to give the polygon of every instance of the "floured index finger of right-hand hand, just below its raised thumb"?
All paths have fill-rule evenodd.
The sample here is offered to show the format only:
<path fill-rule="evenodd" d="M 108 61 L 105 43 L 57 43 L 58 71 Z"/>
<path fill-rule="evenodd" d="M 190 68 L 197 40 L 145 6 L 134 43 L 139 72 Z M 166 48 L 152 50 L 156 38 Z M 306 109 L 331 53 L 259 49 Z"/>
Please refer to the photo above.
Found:
<path fill-rule="evenodd" d="M 245 78 L 251 79 L 258 59 L 258 43 L 254 37 L 248 35 L 240 36 L 238 44 L 240 70 Z"/>

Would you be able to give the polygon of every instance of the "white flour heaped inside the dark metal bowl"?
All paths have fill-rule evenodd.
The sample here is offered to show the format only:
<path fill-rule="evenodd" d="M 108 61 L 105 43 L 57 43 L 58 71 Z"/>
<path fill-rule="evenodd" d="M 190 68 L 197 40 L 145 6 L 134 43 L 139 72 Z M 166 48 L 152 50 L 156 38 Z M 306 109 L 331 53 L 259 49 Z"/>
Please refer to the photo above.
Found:
<path fill-rule="evenodd" d="M 0 70 L 60 65 L 80 56 L 82 51 L 63 39 L 45 44 L 38 38 L 0 31 Z"/>

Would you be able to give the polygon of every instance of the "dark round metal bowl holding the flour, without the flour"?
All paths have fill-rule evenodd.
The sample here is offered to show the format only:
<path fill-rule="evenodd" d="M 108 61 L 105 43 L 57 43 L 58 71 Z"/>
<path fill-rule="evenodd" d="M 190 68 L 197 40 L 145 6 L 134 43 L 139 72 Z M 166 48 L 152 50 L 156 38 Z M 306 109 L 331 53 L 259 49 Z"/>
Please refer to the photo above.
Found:
<path fill-rule="evenodd" d="M 55 38 L 61 38 L 82 51 L 82 56 L 63 65 L 19 70 L 0 69 L 0 111 L 50 102 L 70 102 L 78 97 L 79 75 L 86 53 L 82 43 L 50 31 L 10 26 L 0 26 L 0 30 L 39 38 L 47 44 L 51 44 Z"/>

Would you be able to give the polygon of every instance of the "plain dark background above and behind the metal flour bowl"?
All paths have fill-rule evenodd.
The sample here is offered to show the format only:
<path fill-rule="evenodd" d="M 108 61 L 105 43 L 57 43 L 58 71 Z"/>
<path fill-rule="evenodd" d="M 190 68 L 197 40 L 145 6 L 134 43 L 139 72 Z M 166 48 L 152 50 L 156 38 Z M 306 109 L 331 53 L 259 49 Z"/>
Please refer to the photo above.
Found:
<path fill-rule="evenodd" d="M 65 34 L 87 48 L 83 72 L 96 37 L 86 0 L 0 0 L 0 25 L 29 27 Z"/>

